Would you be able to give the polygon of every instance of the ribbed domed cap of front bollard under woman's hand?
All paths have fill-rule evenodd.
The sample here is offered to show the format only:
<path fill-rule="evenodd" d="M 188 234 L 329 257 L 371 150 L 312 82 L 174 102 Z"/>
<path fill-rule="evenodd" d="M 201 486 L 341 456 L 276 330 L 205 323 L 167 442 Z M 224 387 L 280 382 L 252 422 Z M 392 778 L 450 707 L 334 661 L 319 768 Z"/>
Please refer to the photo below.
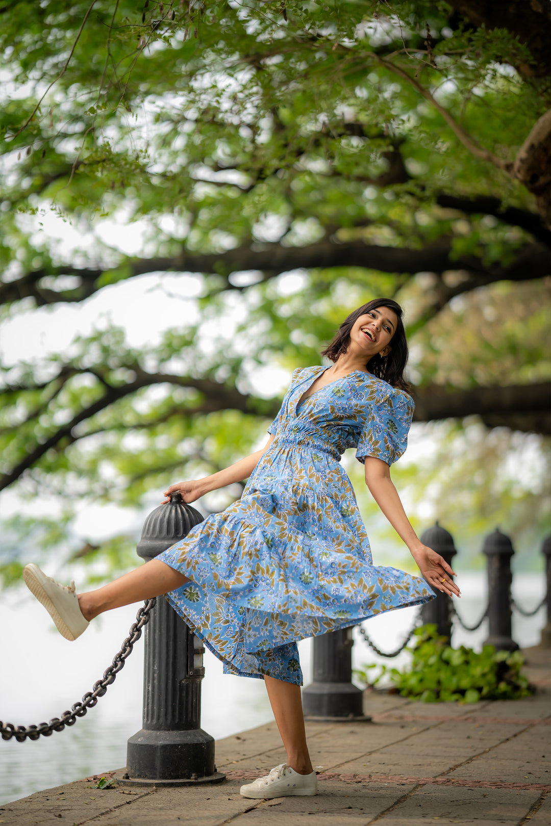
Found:
<path fill-rule="evenodd" d="M 144 522 L 138 556 L 152 559 L 188 535 L 194 525 L 202 522 L 198 510 L 187 505 L 179 491 L 170 494 L 170 502 L 152 510 Z"/>

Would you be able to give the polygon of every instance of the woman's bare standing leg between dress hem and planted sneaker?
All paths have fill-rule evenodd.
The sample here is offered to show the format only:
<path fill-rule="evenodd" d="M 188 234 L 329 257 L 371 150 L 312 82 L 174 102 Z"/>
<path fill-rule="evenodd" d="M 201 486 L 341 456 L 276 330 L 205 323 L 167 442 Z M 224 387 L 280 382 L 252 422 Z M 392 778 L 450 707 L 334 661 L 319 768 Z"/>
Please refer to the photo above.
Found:
<path fill-rule="evenodd" d="M 273 716 L 287 752 L 287 764 L 298 774 L 314 771 L 306 745 L 300 686 L 264 676 Z"/>

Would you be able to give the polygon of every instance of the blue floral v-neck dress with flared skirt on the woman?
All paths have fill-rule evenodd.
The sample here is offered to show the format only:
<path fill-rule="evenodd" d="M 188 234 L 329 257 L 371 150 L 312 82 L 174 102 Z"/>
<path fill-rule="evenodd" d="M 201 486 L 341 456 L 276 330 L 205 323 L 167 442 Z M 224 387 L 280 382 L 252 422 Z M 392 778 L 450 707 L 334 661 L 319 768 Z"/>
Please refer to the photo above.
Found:
<path fill-rule="evenodd" d="M 295 370 L 275 436 L 238 501 L 158 559 L 191 582 L 167 598 L 226 673 L 302 685 L 297 641 L 420 605 L 420 577 L 373 565 L 340 457 L 391 465 L 406 449 L 413 402 L 355 370 L 299 401 L 326 368 Z"/>

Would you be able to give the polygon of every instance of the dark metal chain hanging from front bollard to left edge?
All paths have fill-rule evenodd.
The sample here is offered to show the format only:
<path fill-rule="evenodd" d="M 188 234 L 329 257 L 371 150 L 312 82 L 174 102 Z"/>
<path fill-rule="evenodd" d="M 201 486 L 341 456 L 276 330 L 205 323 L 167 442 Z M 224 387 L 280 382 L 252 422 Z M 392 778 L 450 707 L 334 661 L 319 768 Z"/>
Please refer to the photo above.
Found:
<path fill-rule="evenodd" d="M 97 704 L 98 697 L 102 697 L 106 691 L 107 686 L 111 686 L 115 681 L 116 675 L 125 667 L 126 658 L 132 653 L 135 643 L 141 637 L 141 629 L 150 621 L 150 611 L 154 607 L 156 599 L 145 601 L 138 613 L 135 615 L 135 623 L 131 625 L 124 643 L 121 645 L 121 650 L 113 657 L 112 665 L 110 665 L 104 672 L 101 680 L 93 684 L 92 691 L 87 691 L 83 699 L 79 703 L 71 706 L 70 711 L 64 711 L 61 717 L 54 717 L 50 719 L 50 723 L 40 723 L 39 725 L 18 725 L 14 726 L 12 723 L 2 723 L 0 720 L 0 733 L 2 733 L 2 740 L 11 740 L 15 737 L 18 743 L 23 743 L 28 737 L 30 740 L 38 740 L 40 734 L 45 737 L 50 737 L 54 731 L 63 731 L 66 725 L 74 725 L 77 722 L 77 717 L 83 717 L 88 709 L 93 709 Z"/>

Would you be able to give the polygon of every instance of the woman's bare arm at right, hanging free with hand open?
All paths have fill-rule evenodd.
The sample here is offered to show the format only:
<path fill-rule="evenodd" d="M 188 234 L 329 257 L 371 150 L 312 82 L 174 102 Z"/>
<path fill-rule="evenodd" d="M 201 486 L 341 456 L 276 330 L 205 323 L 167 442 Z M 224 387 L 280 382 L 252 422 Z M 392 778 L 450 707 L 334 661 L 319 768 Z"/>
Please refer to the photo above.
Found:
<path fill-rule="evenodd" d="M 366 456 L 364 462 L 365 483 L 369 492 L 398 536 L 410 549 L 411 556 L 415 559 L 425 580 L 432 588 L 437 588 L 448 596 L 461 596 L 458 586 L 449 579 L 449 577 L 455 577 L 449 564 L 439 553 L 422 544 L 417 538 L 401 504 L 398 491 L 394 487 L 387 463 L 374 456 Z M 444 577 L 445 582 L 442 582 Z"/>

